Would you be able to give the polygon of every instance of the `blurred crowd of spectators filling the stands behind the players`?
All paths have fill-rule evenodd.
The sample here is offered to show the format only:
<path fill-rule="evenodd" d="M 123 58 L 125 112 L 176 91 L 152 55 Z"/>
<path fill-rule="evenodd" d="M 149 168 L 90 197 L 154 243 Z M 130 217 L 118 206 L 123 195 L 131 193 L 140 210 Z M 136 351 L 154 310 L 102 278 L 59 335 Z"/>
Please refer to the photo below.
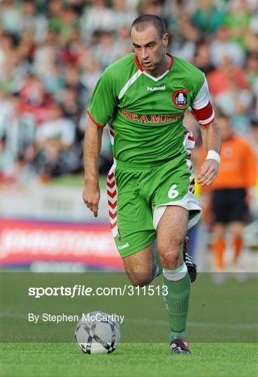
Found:
<path fill-rule="evenodd" d="M 257 0 L 2 0 L 1 179 L 83 171 L 87 105 L 103 70 L 132 52 L 131 22 L 164 18 L 169 52 L 206 73 L 213 105 L 257 138 Z M 104 98 L 103 98 L 104 101 Z M 199 135 L 189 114 L 185 124 Z M 112 160 L 104 131 L 100 172 Z"/>

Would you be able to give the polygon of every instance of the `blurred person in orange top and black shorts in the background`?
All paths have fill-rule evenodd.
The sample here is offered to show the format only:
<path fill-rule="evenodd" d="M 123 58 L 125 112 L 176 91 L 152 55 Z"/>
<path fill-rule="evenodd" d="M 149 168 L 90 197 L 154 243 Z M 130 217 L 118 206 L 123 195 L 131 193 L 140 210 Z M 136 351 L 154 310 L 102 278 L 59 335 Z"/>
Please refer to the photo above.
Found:
<path fill-rule="evenodd" d="M 252 147 L 245 138 L 234 133 L 229 118 L 218 117 L 222 131 L 221 167 L 216 181 L 208 188 L 202 189 L 209 195 L 210 219 L 213 242 L 211 249 L 215 256 L 218 272 L 225 269 L 224 253 L 227 247 L 225 233 L 229 228 L 234 248 L 234 267 L 243 249 L 243 227 L 248 219 L 248 205 L 254 193 L 257 177 L 256 157 Z M 203 149 L 202 161 L 206 152 Z M 209 214 L 208 214 L 209 216 Z"/>

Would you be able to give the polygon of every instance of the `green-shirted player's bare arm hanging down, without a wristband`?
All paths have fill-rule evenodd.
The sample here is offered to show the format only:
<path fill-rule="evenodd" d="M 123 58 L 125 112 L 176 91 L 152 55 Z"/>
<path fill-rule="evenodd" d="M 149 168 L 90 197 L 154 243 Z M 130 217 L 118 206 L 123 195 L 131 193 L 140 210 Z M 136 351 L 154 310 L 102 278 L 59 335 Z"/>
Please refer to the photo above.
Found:
<path fill-rule="evenodd" d="M 83 162 L 85 168 L 83 200 L 85 205 L 98 216 L 99 191 L 99 154 L 103 128 L 96 126 L 89 118 L 85 131 Z"/>

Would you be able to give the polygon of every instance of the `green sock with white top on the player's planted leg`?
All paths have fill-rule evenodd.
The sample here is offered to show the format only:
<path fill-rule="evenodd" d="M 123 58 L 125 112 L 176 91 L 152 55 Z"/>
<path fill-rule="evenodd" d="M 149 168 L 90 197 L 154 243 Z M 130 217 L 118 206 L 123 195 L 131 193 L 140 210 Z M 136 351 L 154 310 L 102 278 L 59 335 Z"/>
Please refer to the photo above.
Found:
<path fill-rule="evenodd" d="M 164 275 L 172 277 L 174 274 L 182 272 L 185 269 L 185 263 L 178 269 L 164 269 Z M 169 313 L 170 339 L 183 337 L 185 338 L 185 327 L 189 306 L 191 283 L 189 275 L 186 274 L 183 279 L 171 281 L 164 276 L 163 295 L 166 309 Z"/>

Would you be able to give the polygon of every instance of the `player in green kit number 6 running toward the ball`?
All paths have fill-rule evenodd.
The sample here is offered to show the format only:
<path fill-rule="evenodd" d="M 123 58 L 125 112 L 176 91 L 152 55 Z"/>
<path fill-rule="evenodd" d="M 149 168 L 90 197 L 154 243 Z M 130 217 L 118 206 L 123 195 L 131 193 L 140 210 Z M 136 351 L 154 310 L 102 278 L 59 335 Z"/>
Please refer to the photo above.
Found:
<path fill-rule="evenodd" d="M 185 110 L 191 106 L 208 151 L 198 177 L 202 185 L 217 176 L 220 132 L 204 74 L 166 52 L 163 20 L 138 17 L 131 39 L 134 54 L 106 68 L 89 104 L 83 200 L 97 216 L 98 159 L 108 124 L 115 158 L 107 180 L 115 244 L 134 286 L 145 286 L 162 272 L 171 352 L 189 354 L 185 326 L 191 282 L 182 248 L 201 208 L 190 161 L 194 138 L 182 125 Z M 152 251 L 155 239 L 160 261 Z"/>

